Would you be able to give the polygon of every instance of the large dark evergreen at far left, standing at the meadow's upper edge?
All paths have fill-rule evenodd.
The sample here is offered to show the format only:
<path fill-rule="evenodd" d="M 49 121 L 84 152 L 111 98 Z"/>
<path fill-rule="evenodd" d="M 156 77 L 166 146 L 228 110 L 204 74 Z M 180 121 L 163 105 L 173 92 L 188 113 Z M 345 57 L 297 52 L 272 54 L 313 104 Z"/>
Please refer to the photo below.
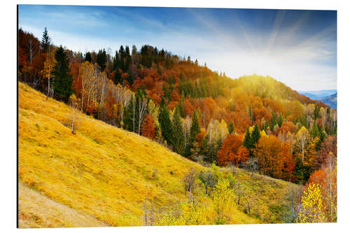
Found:
<path fill-rule="evenodd" d="M 69 58 L 62 45 L 55 52 L 56 64 L 52 70 L 55 99 L 68 101 L 72 94 L 73 78 L 69 74 Z"/>

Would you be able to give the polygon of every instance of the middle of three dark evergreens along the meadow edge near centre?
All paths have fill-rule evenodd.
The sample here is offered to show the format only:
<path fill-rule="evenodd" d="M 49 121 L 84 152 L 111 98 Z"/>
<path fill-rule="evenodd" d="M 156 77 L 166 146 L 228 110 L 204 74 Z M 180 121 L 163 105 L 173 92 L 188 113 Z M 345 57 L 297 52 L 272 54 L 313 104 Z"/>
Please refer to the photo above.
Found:
<path fill-rule="evenodd" d="M 183 148 L 184 148 L 184 143 L 185 143 L 185 136 L 183 134 L 183 127 L 182 127 L 182 122 L 180 118 L 180 110 L 179 106 L 176 106 L 175 108 L 175 113 L 174 113 L 174 118 L 173 118 L 173 146 L 174 146 L 174 151 L 180 155 L 183 155 Z"/>

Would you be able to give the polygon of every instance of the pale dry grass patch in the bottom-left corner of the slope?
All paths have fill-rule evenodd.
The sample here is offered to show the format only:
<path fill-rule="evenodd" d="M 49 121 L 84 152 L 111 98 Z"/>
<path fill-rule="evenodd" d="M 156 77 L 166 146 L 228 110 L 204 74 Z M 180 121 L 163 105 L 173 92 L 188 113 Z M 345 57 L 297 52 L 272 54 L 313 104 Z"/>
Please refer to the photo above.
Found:
<path fill-rule="evenodd" d="M 105 223 L 59 204 L 19 183 L 19 226 L 33 227 L 106 227 Z"/>

